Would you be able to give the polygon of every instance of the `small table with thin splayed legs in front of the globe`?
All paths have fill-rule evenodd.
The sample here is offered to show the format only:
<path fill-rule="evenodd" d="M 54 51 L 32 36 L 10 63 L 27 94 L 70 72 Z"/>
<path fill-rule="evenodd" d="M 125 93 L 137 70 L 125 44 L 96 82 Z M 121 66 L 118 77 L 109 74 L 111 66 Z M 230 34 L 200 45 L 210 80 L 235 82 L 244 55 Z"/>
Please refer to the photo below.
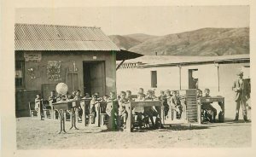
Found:
<path fill-rule="evenodd" d="M 73 127 L 76 129 L 76 130 L 79 130 L 76 126 L 76 116 L 75 116 L 75 113 L 74 113 L 74 108 L 77 108 L 79 107 L 78 105 L 78 100 L 71 100 L 71 101 L 67 101 L 67 102 L 55 102 L 55 103 L 52 103 L 53 107 L 58 110 L 60 112 L 60 115 L 61 115 L 61 131 L 59 132 L 59 134 L 63 131 L 64 133 L 67 133 L 65 131 L 65 118 L 64 118 L 64 113 L 67 112 L 67 110 L 72 110 L 72 119 L 71 119 L 71 122 L 72 122 L 72 126 L 70 129 L 72 129 Z"/>

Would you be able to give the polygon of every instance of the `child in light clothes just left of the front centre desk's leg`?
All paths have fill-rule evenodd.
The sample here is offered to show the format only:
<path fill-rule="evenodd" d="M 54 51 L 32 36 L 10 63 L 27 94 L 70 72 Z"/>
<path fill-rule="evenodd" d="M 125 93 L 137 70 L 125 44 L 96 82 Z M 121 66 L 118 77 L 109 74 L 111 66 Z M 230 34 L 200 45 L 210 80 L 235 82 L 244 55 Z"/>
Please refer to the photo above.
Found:
<path fill-rule="evenodd" d="M 120 93 L 120 99 L 119 99 L 119 116 L 118 116 L 118 125 L 119 127 L 126 128 L 126 119 L 128 113 L 126 112 L 125 104 L 128 102 L 128 100 L 125 98 L 126 93 L 125 91 L 121 91 Z"/>

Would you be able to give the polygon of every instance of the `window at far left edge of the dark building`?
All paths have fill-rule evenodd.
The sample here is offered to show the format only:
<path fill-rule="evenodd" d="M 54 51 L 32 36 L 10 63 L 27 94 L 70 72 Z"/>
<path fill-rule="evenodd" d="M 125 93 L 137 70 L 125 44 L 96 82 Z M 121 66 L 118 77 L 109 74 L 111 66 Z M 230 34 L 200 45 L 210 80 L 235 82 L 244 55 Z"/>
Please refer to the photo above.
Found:
<path fill-rule="evenodd" d="M 24 87 L 24 61 L 15 61 L 15 87 Z"/>

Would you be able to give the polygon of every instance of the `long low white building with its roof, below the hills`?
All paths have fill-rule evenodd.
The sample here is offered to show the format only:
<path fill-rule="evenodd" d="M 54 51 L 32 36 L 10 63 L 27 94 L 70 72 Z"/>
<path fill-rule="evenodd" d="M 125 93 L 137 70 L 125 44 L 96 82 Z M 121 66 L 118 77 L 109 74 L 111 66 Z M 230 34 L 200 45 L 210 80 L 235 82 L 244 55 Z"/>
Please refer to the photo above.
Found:
<path fill-rule="evenodd" d="M 144 55 L 124 62 L 117 71 L 117 90 L 138 88 L 160 90 L 187 90 L 206 88 L 212 96 L 224 96 L 227 105 L 234 106 L 232 84 L 239 70 L 248 81 L 250 55 L 224 56 L 163 56 Z M 231 107 L 235 111 L 235 108 Z"/>

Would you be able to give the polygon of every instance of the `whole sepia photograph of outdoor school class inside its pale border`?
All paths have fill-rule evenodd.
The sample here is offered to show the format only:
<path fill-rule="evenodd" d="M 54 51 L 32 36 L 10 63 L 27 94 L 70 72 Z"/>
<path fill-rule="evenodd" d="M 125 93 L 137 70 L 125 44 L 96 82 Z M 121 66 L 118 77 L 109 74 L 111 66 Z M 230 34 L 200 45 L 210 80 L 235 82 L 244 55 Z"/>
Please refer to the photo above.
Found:
<path fill-rule="evenodd" d="M 15 9 L 16 148 L 250 148 L 250 7 Z"/>

